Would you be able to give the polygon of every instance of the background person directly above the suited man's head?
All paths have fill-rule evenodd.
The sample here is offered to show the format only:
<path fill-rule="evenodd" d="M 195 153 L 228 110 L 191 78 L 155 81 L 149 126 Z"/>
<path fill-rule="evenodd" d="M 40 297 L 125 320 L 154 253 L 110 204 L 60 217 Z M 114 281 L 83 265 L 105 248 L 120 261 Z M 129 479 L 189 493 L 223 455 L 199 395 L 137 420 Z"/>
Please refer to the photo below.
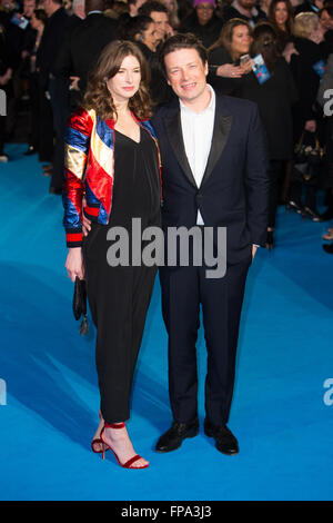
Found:
<path fill-rule="evenodd" d="M 194 11 L 181 22 L 179 32 L 195 34 L 208 49 L 219 38 L 223 21 L 215 13 L 215 0 L 194 0 Z"/>

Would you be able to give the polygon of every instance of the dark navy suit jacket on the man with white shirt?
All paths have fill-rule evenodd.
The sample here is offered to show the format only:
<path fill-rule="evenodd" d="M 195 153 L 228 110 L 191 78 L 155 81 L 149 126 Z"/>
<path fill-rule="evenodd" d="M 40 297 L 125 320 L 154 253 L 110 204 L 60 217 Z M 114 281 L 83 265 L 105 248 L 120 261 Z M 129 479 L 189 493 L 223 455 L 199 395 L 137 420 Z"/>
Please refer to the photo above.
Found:
<path fill-rule="evenodd" d="M 162 106 L 151 120 L 162 159 L 163 227 L 226 227 L 228 263 L 249 257 L 266 239 L 268 148 L 255 103 L 216 95 L 212 146 L 198 187 L 181 131 L 180 106 Z M 216 229 L 214 229 L 216 230 Z"/>

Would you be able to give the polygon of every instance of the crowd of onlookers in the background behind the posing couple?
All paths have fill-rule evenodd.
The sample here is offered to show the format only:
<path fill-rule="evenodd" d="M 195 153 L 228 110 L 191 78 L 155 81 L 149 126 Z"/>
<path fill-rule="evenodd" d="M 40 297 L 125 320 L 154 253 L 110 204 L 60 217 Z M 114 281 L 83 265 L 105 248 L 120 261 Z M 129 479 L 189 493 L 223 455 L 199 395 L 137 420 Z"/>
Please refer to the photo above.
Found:
<path fill-rule="evenodd" d="M 322 89 L 320 95 L 320 86 L 333 87 L 332 0 L 0 0 L 0 86 L 8 111 L 7 120 L 0 117 L 0 161 L 10 159 L 3 146 L 20 99 L 29 97 L 26 155 L 39 155 L 50 193 L 61 194 L 65 124 L 101 50 L 114 39 L 135 42 L 149 62 L 158 107 L 174 96 L 158 56 L 161 42 L 176 32 L 195 34 L 208 49 L 208 78 L 218 92 L 259 105 L 271 160 L 268 247 L 279 203 L 313 221 L 333 218 L 333 125 Z M 259 55 L 269 70 L 263 83 L 253 71 Z M 316 165 L 299 162 L 295 150 L 311 151 Z M 319 189 L 327 206 L 322 214 Z M 333 231 L 324 238 L 333 240 Z"/>

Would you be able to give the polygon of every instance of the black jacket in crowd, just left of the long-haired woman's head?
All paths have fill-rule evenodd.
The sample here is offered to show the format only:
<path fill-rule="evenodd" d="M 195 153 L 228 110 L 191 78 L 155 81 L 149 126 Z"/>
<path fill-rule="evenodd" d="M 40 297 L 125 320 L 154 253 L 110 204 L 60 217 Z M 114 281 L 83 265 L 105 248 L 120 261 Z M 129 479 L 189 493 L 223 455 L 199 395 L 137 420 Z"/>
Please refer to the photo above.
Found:
<path fill-rule="evenodd" d="M 57 59 L 57 75 L 80 77 L 79 87 L 83 92 L 91 67 L 102 49 L 114 40 L 115 29 L 115 20 L 100 13 L 89 14 L 63 42 Z"/>

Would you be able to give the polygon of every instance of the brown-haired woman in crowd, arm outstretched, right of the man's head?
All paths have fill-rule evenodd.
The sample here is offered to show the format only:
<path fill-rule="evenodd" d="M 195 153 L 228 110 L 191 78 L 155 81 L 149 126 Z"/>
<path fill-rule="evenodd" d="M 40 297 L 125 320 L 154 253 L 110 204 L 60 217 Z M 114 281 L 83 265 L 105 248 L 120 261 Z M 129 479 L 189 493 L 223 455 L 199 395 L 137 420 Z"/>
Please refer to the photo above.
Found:
<path fill-rule="evenodd" d="M 223 26 L 219 40 L 209 49 L 209 81 L 220 93 L 238 93 L 243 76 L 251 71 L 251 60 L 240 61 L 241 57 L 250 58 L 251 42 L 250 23 L 234 18 Z"/>

